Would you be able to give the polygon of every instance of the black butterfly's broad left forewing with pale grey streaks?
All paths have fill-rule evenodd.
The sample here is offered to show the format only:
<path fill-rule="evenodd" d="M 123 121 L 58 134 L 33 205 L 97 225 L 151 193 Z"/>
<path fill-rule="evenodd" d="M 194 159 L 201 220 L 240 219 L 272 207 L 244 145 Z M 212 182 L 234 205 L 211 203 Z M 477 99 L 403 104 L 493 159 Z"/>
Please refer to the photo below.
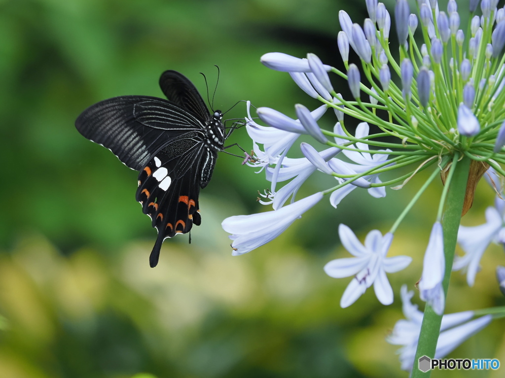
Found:
<path fill-rule="evenodd" d="M 167 141 L 204 124 L 176 104 L 157 97 L 120 96 L 100 101 L 75 121 L 86 138 L 109 148 L 139 171 Z"/>

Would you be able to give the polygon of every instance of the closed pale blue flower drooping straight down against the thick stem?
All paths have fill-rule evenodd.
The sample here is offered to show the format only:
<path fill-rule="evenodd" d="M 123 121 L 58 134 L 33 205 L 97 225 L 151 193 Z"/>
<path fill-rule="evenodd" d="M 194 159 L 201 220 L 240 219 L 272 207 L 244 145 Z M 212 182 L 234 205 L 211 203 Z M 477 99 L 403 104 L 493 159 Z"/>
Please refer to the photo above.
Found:
<path fill-rule="evenodd" d="M 435 222 L 424 254 L 419 291 L 421 299 L 433 307 L 433 310 L 439 315 L 443 313 L 445 306 L 445 294 L 442 287 L 444 274 L 445 256 L 442 225 L 440 222 Z"/>

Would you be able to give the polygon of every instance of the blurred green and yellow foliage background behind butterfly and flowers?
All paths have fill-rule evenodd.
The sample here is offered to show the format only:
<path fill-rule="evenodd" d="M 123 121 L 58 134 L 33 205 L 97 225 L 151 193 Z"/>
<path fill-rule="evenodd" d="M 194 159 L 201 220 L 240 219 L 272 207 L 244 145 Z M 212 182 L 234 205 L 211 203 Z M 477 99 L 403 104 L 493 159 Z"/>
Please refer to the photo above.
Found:
<path fill-rule="evenodd" d="M 392 11 L 394 2 L 386 6 Z M 413 289 L 421 275 L 441 184 L 393 241 L 392 255 L 414 257 L 389 276 L 394 304 L 380 305 L 370 289 L 341 309 L 350 278 L 334 280 L 322 270 L 349 256 L 338 224 L 361 240 L 372 228 L 387 232 L 423 174 L 383 199 L 356 190 L 337 210 L 324 199 L 272 243 L 232 257 L 221 222 L 263 211 L 257 192 L 269 183 L 221 154 L 200 194 L 203 223 L 192 244 L 187 236 L 167 240 L 151 269 L 156 231 L 135 201 L 136 172 L 74 128 L 99 100 L 162 96 L 157 83 L 167 69 L 189 77 L 205 97 L 199 72 L 212 92 L 214 65 L 221 69 L 217 109 L 247 99 L 290 116 L 294 103 L 313 109 L 317 102 L 289 75 L 259 59 L 270 51 L 314 52 L 340 67 L 339 9 L 359 23 L 367 17 L 364 2 L 332 0 L 0 1 L 0 377 L 407 376 L 385 337 L 403 317 L 401 284 Z M 345 95 L 345 82 L 334 85 Z M 227 113 L 244 116 L 244 103 Z M 324 122 L 332 126 L 331 117 Z M 251 148 L 243 129 L 230 142 Z M 332 184 L 316 174 L 299 198 Z M 482 223 L 492 200 L 481 183 L 464 224 Z M 503 253 L 493 246 L 472 289 L 456 273 L 447 312 L 503 305 L 497 264 Z M 493 322 L 452 355 L 505 362 L 502 327 Z"/>

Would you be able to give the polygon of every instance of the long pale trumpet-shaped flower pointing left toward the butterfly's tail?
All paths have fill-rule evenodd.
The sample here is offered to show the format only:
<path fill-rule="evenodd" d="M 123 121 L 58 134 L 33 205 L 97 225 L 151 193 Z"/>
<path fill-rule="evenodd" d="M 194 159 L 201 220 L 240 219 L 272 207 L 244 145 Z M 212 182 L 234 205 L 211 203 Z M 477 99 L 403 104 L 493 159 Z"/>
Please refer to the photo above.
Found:
<path fill-rule="evenodd" d="M 223 230 L 232 234 L 229 237 L 233 240 L 232 255 L 238 256 L 250 252 L 274 240 L 321 198 L 323 193 L 318 192 L 278 210 L 226 218 L 221 226 Z"/>

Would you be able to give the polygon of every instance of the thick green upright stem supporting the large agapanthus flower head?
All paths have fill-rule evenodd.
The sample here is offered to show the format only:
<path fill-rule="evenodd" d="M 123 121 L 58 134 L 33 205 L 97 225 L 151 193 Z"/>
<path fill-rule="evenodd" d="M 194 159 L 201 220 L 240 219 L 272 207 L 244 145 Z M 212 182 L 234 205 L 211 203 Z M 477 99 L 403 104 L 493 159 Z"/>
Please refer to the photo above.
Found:
<path fill-rule="evenodd" d="M 445 203 L 445 212 L 442 220 L 443 242 L 445 254 L 445 275 L 443 279 L 443 289 L 445 297 L 447 297 L 447 288 L 449 286 L 452 261 L 454 260 L 454 252 L 456 249 L 456 240 L 458 237 L 458 229 L 460 227 L 461 212 L 463 211 L 463 202 L 465 200 L 465 192 L 468 181 L 468 172 L 470 168 L 470 159 L 464 157 L 458 162 L 452 180 L 449 184 L 447 193 L 447 201 Z M 440 334 L 440 323 L 442 315 L 437 315 L 431 306 L 426 305 L 419 335 L 419 343 L 417 346 L 416 357 L 414 359 L 414 368 L 412 369 L 412 378 L 429 377 L 431 370 L 423 373 L 418 368 L 419 358 L 428 356 L 433 358 Z"/>

